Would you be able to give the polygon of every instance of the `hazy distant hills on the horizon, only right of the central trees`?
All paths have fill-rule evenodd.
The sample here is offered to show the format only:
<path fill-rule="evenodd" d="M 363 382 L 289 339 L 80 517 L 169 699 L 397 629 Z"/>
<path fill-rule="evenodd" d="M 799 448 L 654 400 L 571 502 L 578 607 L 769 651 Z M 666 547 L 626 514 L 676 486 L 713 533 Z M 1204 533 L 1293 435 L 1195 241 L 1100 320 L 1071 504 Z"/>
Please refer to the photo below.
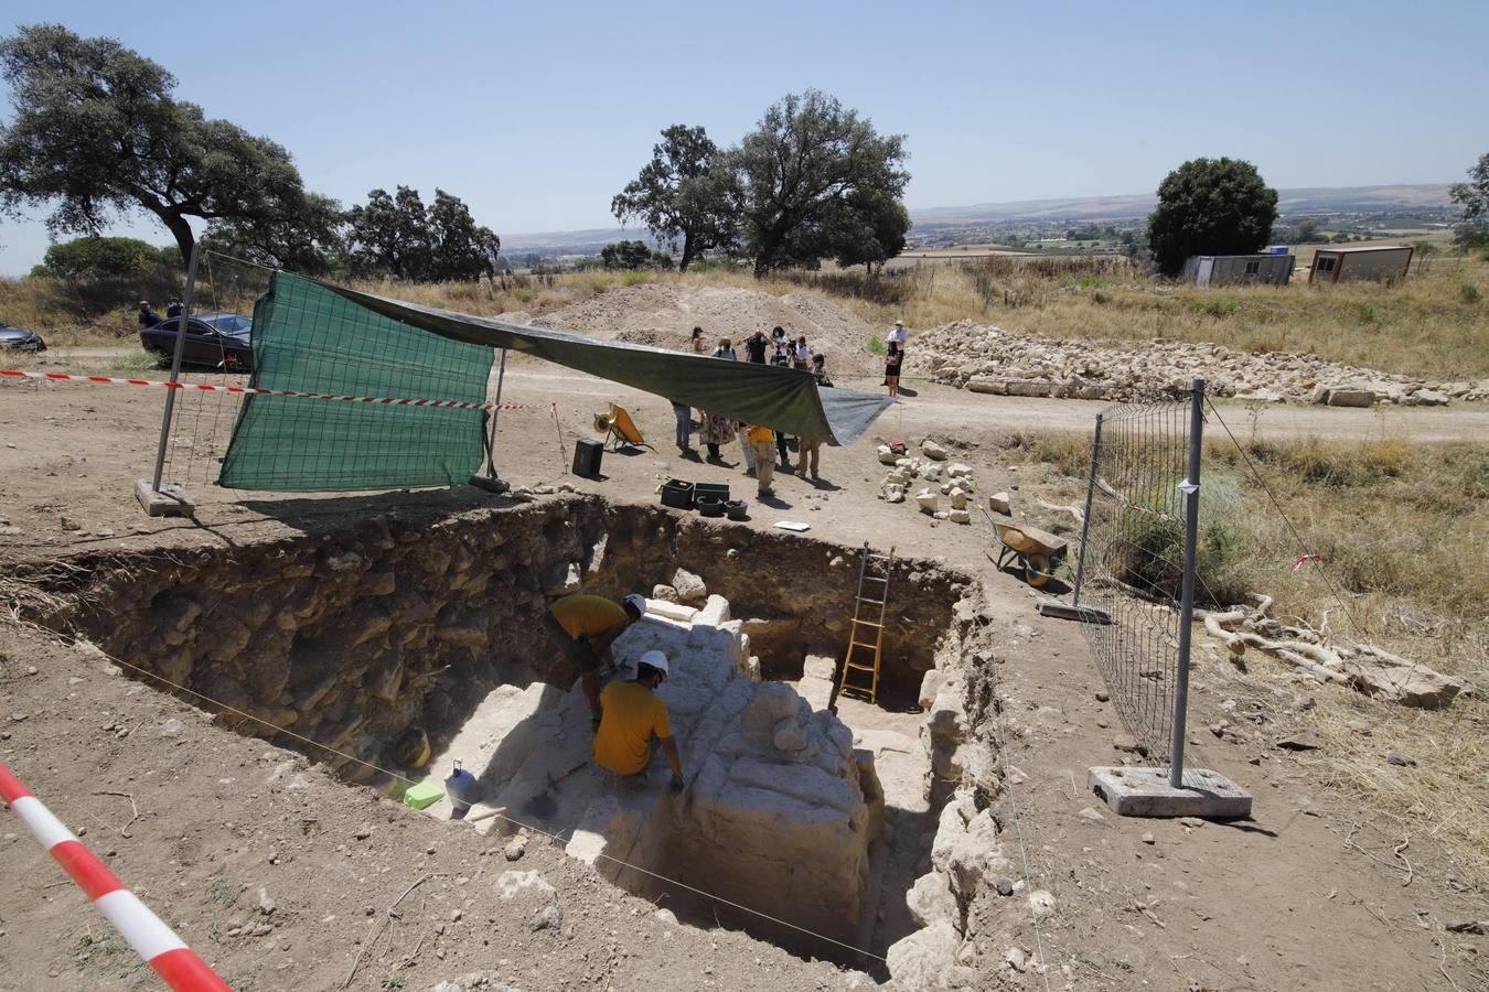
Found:
<path fill-rule="evenodd" d="M 1154 193 L 1126 196 L 1088 196 L 1085 199 L 1023 199 L 1007 204 L 972 204 L 969 207 L 929 207 L 911 210 L 916 228 L 950 228 L 1008 220 L 1121 220 L 1144 217 L 1158 204 Z M 1415 186 L 1309 186 L 1279 189 L 1281 213 L 1351 213 L 1383 210 L 1421 210 L 1447 207 L 1447 183 Z"/>

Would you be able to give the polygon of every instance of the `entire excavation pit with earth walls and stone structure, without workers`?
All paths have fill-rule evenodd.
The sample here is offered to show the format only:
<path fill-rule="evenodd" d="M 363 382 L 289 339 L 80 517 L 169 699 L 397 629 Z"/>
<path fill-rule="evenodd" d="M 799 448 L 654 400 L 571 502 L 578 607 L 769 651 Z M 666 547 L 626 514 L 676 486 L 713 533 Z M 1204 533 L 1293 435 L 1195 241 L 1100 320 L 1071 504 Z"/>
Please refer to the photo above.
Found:
<path fill-rule="evenodd" d="M 837 715 L 858 550 L 804 535 L 573 495 L 91 567 L 55 623 L 348 781 L 398 797 L 406 782 L 377 769 L 442 779 L 460 759 L 472 819 L 503 811 L 476 828 L 527 824 L 683 922 L 800 955 L 867 967 L 850 949 L 916 928 L 905 892 L 947 791 L 917 699 L 966 589 L 932 562 L 896 562 L 880 705 Z M 707 584 L 701 611 L 654 602 L 616 644 L 622 665 L 646 647 L 680 659 L 661 690 L 689 779 L 675 799 L 660 756 L 640 781 L 587 761 L 576 672 L 539 619 L 555 595 L 651 593 L 679 567 Z M 424 736 L 435 760 L 415 770 Z"/>

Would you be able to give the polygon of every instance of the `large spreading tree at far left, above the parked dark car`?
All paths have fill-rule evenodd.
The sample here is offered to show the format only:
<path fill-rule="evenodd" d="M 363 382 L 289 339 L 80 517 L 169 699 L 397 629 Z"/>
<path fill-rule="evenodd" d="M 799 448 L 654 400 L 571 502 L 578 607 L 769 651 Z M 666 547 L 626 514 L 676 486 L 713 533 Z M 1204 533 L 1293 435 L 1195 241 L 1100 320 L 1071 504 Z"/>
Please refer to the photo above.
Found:
<path fill-rule="evenodd" d="M 305 208 L 281 146 L 174 100 L 176 79 L 113 39 L 21 28 L 0 42 L 0 74 L 15 112 L 0 125 L 0 207 L 51 205 L 54 233 L 147 211 L 185 259 L 189 217 L 261 223 Z"/>

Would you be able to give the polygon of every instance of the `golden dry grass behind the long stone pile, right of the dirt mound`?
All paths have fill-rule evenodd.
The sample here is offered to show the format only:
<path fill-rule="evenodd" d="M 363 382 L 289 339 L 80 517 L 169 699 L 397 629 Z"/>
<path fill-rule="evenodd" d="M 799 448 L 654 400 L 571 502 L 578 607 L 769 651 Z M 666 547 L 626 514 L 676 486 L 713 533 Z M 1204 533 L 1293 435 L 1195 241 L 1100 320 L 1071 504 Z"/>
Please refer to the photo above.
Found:
<path fill-rule="evenodd" d="M 1083 262 L 1106 266 L 1090 272 Z M 926 265 L 883 280 L 899 286 L 880 290 L 861 277 L 817 281 L 856 290 L 847 305 L 884 324 L 898 317 L 932 327 L 969 317 L 1051 338 L 1217 342 L 1440 379 L 1489 376 L 1489 263 L 1482 259 L 1435 259 L 1398 286 L 1231 289 L 1155 283 L 1117 262 L 1069 259 L 1056 275 L 1017 259 Z"/>

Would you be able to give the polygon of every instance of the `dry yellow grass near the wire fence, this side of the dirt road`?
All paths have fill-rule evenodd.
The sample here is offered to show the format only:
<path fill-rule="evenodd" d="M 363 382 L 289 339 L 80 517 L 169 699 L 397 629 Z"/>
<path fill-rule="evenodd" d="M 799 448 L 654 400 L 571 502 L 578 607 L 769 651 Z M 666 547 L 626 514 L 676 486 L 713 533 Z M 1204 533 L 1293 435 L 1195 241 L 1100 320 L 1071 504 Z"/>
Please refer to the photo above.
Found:
<path fill-rule="evenodd" d="M 1088 437 L 1010 443 L 1050 466 L 1045 498 L 1069 503 L 1084 494 Z M 1422 711 L 1348 689 L 1310 689 L 1318 700 L 1312 726 L 1325 742 L 1312 767 L 1322 784 L 1382 814 L 1380 830 L 1434 837 L 1459 880 L 1489 888 L 1489 443 L 1242 443 L 1303 544 L 1236 445 L 1212 440 L 1208 483 L 1242 494 L 1234 522 L 1245 540 L 1234 561 L 1221 565 L 1239 568 L 1246 587 L 1275 596 L 1276 616 L 1327 623 L 1342 640 L 1379 644 L 1464 677 L 1476 690 L 1447 709 Z M 1304 550 L 1324 561 L 1294 573 Z M 1236 574 L 1222 580 L 1234 582 Z M 1284 662 L 1246 657 L 1245 674 L 1217 662 L 1205 665 L 1202 677 L 1218 695 L 1297 689 Z M 1416 764 L 1392 764 L 1391 754 Z"/>

